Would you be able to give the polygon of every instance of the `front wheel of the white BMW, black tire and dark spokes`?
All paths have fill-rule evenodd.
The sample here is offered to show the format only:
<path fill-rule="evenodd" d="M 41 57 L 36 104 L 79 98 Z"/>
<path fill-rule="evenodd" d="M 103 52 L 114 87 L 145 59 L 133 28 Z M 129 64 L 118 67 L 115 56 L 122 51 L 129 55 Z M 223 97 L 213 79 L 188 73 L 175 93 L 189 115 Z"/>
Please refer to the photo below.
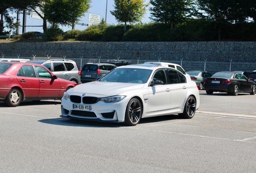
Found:
<path fill-rule="evenodd" d="M 138 99 L 131 99 L 126 107 L 124 122 L 128 126 L 135 126 L 140 122 L 142 115 L 141 103 Z"/>

